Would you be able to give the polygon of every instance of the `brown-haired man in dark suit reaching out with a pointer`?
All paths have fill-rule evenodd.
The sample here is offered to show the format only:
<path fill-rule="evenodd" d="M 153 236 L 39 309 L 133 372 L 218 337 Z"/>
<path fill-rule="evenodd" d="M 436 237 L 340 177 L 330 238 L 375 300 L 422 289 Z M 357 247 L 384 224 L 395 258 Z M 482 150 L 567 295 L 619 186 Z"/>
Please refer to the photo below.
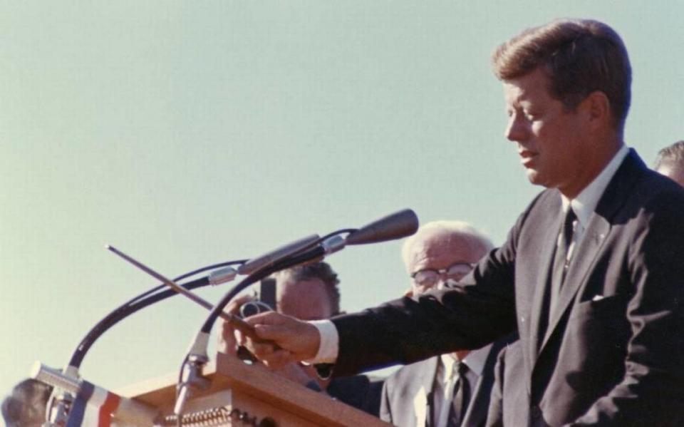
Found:
<path fill-rule="evenodd" d="M 458 289 L 310 324 L 249 319 L 268 364 L 343 375 L 474 349 L 517 329 L 507 426 L 684 425 L 684 189 L 623 143 L 631 66 L 597 21 L 529 29 L 494 53 L 507 138 L 546 190 Z M 508 381 L 508 380 L 507 380 Z"/>

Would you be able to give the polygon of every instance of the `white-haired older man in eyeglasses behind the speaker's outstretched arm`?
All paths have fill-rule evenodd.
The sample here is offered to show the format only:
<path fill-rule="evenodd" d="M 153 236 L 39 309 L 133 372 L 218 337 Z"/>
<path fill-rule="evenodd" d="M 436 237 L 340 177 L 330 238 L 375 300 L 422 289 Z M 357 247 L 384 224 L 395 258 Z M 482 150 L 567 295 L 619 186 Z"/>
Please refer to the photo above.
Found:
<path fill-rule="evenodd" d="M 429 222 L 406 240 L 402 256 L 410 294 L 450 287 L 492 250 L 492 242 L 460 221 Z M 380 418 L 395 426 L 484 426 L 494 362 L 505 341 L 404 366 L 385 381 Z"/>

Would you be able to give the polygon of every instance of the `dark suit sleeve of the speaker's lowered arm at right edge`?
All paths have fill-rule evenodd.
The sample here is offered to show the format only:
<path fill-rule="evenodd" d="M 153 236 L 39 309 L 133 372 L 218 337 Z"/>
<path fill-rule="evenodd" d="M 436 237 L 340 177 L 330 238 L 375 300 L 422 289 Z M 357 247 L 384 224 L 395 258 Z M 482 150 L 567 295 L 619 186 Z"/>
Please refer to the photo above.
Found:
<path fill-rule="evenodd" d="M 572 426 L 684 425 L 684 203 L 674 196 L 647 204 L 630 230 L 624 377 Z"/>

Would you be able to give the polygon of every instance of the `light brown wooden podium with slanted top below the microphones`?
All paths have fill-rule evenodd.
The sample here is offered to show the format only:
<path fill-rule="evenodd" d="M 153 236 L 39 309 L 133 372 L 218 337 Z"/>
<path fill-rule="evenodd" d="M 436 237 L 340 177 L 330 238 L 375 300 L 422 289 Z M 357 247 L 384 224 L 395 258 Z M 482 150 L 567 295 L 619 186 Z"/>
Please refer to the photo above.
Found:
<path fill-rule="evenodd" d="M 217 354 L 216 364 L 203 372 L 211 381 L 185 406 L 183 426 L 253 427 L 382 427 L 388 423 L 363 411 L 272 374 L 260 364 Z M 173 405 L 177 374 L 144 381 L 115 391 L 160 409 L 160 426 L 175 426 Z"/>

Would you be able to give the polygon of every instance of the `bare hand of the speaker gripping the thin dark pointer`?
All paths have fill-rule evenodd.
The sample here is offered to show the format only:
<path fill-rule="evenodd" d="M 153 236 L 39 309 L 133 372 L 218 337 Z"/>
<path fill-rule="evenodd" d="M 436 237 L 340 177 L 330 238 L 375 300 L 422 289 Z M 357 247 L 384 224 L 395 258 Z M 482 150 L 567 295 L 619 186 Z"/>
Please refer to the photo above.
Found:
<path fill-rule="evenodd" d="M 274 341 L 280 348 L 270 344 L 257 344 L 244 334 L 239 342 L 252 351 L 254 356 L 271 368 L 278 369 L 292 361 L 313 359 L 318 353 L 321 337 L 316 326 L 306 321 L 276 312 L 266 312 L 247 317 L 259 338 Z"/>

